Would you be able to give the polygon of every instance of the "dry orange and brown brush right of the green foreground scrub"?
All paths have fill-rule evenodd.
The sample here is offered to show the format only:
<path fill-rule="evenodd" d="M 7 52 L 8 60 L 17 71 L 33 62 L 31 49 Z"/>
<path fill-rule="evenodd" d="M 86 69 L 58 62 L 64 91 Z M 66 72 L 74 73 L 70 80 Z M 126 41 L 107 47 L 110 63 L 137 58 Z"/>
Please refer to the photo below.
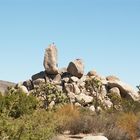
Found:
<path fill-rule="evenodd" d="M 58 109 L 55 115 L 59 133 L 102 133 L 109 140 L 133 140 L 138 135 L 138 119 L 134 113 L 103 112 L 91 115 L 89 110 L 67 105 Z"/>

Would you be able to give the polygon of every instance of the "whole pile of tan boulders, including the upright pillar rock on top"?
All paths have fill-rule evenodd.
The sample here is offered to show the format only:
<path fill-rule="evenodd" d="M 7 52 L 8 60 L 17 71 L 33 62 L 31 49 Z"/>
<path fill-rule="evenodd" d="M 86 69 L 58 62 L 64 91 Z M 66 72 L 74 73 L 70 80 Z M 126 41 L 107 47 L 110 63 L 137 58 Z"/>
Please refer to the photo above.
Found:
<path fill-rule="evenodd" d="M 41 84 L 51 83 L 56 85 L 59 90 L 66 94 L 72 104 L 84 106 L 92 111 L 95 108 L 101 110 L 101 107 L 95 107 L 95 98 L 104 108 L 112 107 L 113 103 L 109 98 L 110 93 L 115 93 L 120 98 L 139 100 L 139 94 L 133 88 L 120 81 L 115 76 L 102 77 L 95 70 L 84 74 L 84 62 L 82 59 L 76 59 L 69 63 L 67 68 L 58 68 L 57 48 L 54 44 L 49 45 L 44 55 L 44 71 L 41 71 L 31 77 L 30 80 L 24 81 L 20 88 L 30 94 L 36 87 Z M 101 90 L 91 92 L 86 88 L 86 81 L 97 79 L 101 82 Z M 26 90 L 25 90 L 26 88 Z"/>

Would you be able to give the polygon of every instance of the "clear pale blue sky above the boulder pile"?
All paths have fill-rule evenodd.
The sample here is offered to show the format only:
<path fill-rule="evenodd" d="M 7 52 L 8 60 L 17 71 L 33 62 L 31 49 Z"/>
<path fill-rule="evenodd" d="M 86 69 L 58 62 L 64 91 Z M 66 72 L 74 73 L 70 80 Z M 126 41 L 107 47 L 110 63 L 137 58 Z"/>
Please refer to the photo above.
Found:
<path fill-rule="evenodd" d="M 44 70 L 55 42 L 59 67 L 82 58 L 85 73 L 140 83 L 140 0 L 0 0 L 0 79 Z"/>

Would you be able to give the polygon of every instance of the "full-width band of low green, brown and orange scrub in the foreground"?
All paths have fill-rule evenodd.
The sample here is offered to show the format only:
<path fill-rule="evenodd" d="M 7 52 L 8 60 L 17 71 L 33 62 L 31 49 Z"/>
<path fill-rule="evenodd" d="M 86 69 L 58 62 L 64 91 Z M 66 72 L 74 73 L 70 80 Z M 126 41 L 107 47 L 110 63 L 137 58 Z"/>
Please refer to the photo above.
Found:
<path fill-rule="evenodd" d="M 54 111 L 39 108 L 17 119 L 0 116 L 0 139 L 50 140 L 56 134 L 69 131 L 71 134 L 102 133 L 109 140 L 133 140 L 139 136 L 138 116 L 122 112 L 98 115 L 71 104 Z"/>

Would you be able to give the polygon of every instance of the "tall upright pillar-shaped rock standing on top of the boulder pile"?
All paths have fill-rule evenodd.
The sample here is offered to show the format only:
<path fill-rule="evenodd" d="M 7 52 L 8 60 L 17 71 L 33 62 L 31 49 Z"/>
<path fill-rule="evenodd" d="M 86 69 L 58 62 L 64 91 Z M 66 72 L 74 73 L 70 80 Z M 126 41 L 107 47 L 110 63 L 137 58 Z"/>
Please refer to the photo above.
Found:
<path fill-rule="evenodd" d="M 49 45 L 45 50 L 44 68 L 47 74 L 58 74 L 57 48 L 54 44 Z"/>

